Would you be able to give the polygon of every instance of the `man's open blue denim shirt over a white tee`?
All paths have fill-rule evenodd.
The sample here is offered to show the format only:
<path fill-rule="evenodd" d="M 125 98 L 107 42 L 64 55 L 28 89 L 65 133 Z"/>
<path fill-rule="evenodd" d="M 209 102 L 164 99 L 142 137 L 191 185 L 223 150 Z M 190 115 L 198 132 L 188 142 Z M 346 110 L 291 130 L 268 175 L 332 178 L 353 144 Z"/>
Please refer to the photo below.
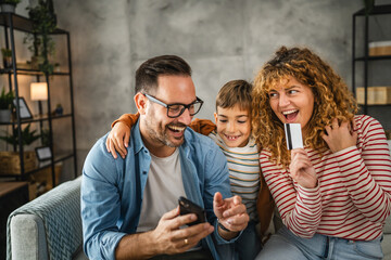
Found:
<path fill-rule="evenodd" d="M 115 259 L 115 248 L 126 234 L 136 233 L 151 155 L 143 145 L 139 123 L 131 129 L 127 156 L 114 159 L 101 138 L 89 152 L 81 182 L 84 250 L 90 259 Z M 213 234 L 202 239 L 215 259 L 225 240 L 218 235 L 213 196 L 230 197 L 226 157 L 209 138 L 187 128 L 179 147 L 186 196 L 205 208 Z M 175 183 L 173 183 L 175 185 Z M 218 248 L 220 247 L 220 248 Z M 223 249 L 224 250 L 224 249 Z"/>

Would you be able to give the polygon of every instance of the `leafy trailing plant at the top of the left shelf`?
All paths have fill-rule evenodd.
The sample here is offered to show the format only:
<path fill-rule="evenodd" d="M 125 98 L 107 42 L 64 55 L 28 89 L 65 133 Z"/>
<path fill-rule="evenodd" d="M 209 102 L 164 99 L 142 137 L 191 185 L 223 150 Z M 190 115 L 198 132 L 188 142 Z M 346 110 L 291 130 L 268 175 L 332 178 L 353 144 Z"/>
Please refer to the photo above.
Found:
<path fill-rule="evenodd" d="M 42 73 L 52 74 L 54 65 L 49 56 L 54 55 L 55 44 L 50 34 L 56 28 L 56 16 L 51 0 L 39 0 L 34 8 L 28 6 L 28 17 L 33 22 L 33 34 L 28 34 L 24 43 L 29 43 L 33 52 L 31 66 Z"/>

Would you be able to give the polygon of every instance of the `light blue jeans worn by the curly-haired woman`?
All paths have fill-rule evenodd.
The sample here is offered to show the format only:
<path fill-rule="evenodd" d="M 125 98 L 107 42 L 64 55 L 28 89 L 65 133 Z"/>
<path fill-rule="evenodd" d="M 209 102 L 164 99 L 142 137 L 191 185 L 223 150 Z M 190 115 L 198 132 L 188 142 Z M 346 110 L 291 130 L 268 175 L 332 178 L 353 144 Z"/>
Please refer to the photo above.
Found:
<path fill-rule="evenodd" d="M 265 244 L 256 259 L 382 259 L 381 238 L 349 240 L 315 234 L 312 238 L 294 235 L 282 226 Z"/>

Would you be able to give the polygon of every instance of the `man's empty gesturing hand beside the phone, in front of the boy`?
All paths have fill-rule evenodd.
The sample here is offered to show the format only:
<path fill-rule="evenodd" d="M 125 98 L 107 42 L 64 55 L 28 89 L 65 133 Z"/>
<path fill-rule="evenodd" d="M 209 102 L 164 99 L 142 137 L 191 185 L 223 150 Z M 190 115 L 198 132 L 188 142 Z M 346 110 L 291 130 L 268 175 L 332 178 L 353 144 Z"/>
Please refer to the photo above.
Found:
<path fill-rule="evenodd" d="M 223 199 L 219 192 L 215 193 L 213 198 L 213 211 L 220 224 L 230 231 L 219 232 L 225 239 L 231 239 L 237 236 L 238 232 L 247 227 L 250 220 L 240 196 Z"/>

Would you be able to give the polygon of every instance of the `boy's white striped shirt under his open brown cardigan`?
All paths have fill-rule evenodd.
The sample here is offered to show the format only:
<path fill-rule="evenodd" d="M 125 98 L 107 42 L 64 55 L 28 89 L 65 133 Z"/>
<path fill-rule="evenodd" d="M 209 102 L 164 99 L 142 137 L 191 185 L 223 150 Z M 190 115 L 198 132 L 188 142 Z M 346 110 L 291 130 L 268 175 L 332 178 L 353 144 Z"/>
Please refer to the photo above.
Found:
<path fill-rule="evenodd" d="M 260 191 L 260 161 L 254 139 L 244 147 L 228 147 L 215 132 L 209 134 L 227 157 L 229 181 L 234 195 L 239 195 L 251 220 L 257 221 L 256 198 Z"/>

